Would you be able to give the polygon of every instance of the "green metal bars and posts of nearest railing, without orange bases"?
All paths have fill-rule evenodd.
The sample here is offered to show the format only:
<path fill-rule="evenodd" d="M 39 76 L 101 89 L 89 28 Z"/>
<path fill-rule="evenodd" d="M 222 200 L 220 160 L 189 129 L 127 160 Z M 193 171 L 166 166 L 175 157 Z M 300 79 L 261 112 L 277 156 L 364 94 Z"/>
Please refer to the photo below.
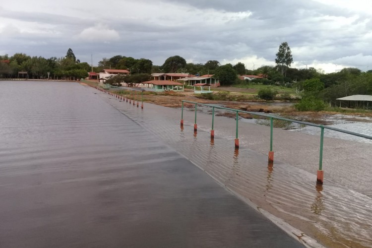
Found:
<path fill-rule="evenodd" d="M 339 128 L 335 127 L 330 127 L 330 126 L 324 126 L 324 125 L 318 125 L 318 124 L 313 124 L 309 122 L 302 122 L 302 121 L 297 121 L 297 120 L 292 120 L 292 119 L 287 119 L 287 118 L 282 118 L 278 116 L 273 116 L 273 115 L 268 115 L 268 114 L 262 114 L 262 113 L 257 113 L 257 112 L 249 112 L 249 111 L 244 111 L 244 110 L 236 110 L 236 109 L 231 109 L 231 108 L 225 108 L 221 106 L 216 106 L 216 105 L 211 105 L 211 104 L 205 104 L 205 103 L 198 103 L 198 102 L 192 102 L 192 101 L 186 101 L 182 100 L 182 107 L 181 107 L 181 124 L 183 124 L 184 120 L 184 103 L 190 103 L 195 105 L 195 121 L 194 124 L 196 124 L 196 112 L 197 112 L 197 106 L 207 106 L 212 108 L 212 130 L 214 130 L 214 110 L 215 109 L 223 109 L 223 110 L 228 110 L 228 111 L 233 111 L 236 112 L 236 139 L 238 139 L 238 121 L 239 121 L 239 113 L 245 113 L 245 114 L 250 114 L 253 116 L 261 116 L 264 118 L 270 119 L 270 152 L 273 152 L 273 120 L 281 120 L 281 121 L 287 121 L 287 122 L 292 122 L 292 123 L 298 123 L 298 124 L 304 124 L 304 125 L 310 125 L 310 126 L 315 126 L 320 128 L 320 147 L 319 147 L 319 170 L 322 171 L 322 160 L 323 160 L 323 139 L 324 139 L 324 129 L 329 129 L 337 132 L 342 132 L 362 138 L 367 138 L 372 140 L 372 136 L 361 134 L 361 133 L 356 133 L 356 132 L 351 132 L 347 130 L 342 130 Z M 238 146 L 239 148 L 239 146 Z M 322 180 L 321 180 L 322 183 Z"/>

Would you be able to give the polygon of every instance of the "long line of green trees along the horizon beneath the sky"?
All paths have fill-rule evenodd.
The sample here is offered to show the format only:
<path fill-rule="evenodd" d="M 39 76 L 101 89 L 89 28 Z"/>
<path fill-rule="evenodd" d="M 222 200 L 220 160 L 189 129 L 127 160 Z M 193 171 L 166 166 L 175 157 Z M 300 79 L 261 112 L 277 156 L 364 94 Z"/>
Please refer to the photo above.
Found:
<path fill-rule="evenodd" d="M 150 73 L 187 73 L 192 75 L 213 75 L 220 80 L 221 85 L 232 84 L 264 84 L 296 87 L 304 93 L 303 99 L 322 101 L 323 103 L 336 104 L 336 98 L 354 94 L 372 94 L 372 70 L 362 72 L 358 68 L 343 68 L 334 73 L 325 74 L 321 69 L 293 68 L 293 57 L 287 42 L 280 44 L 276 53 L 275 66 L 263 65 L 258 68 L 248 69 L 243 62 L 233 65 L 221 65 L 216 60 L 205 63 L 187 63 L 181 56 L 172 56 L 162 65 L 153 65 L 148 59 L 134 59 L 117 55 L 112 58 L 103 58 L 98 66 L 91 67 L 87 62 L 76 59 L 71 49 L 67 50 L 62 58 L 30 57 L 17 53 L 12 57 L 0 56 L 0 77 L 16 78 L 18 71 L 27 71 L 28 78 L 50 79 L 76 79 L 88 76 L 88 71 L 100 72 L 105 68 L 127 69 L 132 83 L 149 80 Z M 238 75 L 261 75 L 261 79 L 241 80 Z M 23 75 L 22 75 L 23 76 Z M 113 82 L 117 83 L 117 82 Z M 309 87 L 309 85 L 317 87 Z M 305 101 L 304 100 L 304 101 Z"/>

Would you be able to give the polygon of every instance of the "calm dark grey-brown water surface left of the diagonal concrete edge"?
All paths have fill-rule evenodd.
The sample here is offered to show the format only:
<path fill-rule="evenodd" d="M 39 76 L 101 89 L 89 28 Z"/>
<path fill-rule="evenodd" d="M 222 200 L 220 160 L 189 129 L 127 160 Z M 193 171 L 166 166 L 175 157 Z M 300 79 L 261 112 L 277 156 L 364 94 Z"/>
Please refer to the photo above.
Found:
<path fill-rule="evenodd" d="M 302 247 L 93 91 L 48 84 L 3 85 L 0 247 Z"/>

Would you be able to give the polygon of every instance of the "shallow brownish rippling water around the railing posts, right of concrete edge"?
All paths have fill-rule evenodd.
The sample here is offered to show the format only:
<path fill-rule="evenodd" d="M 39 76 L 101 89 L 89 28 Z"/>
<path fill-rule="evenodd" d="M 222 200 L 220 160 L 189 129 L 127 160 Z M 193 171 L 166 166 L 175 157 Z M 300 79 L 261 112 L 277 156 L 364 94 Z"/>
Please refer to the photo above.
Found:
<path fill-rule="evenodd" d="M 269 128 L 239 122 L 240 149 L 234 150 L 235 120 L 145 104 L 143 111 L 101 95 L 137 123 L 237 195 L 248 199 L 327 247 L 372 246 L 371 145 L 324 139 L 325 182 L 316 185 L 319 136 L 274 129 L 274 166 L 267 165 Z M 111 98 L 111 99 L 110 99 Z"/>

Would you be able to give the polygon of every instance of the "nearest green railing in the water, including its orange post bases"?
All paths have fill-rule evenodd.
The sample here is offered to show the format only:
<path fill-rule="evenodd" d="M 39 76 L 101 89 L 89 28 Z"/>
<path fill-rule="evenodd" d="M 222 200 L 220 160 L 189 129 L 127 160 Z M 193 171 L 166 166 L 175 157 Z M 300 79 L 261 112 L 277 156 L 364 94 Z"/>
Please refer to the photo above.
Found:
<path fill-rule="evenodd" d="M 367 139 L 371 139 L 372 140 L 372 136 L 361 134 L 361 133 L 357 133 L 357 132 L 342 130 L 342 129 L 335 128 L 335 127 L 318 125 L 318 124 L 313 124 L 313 123 L 310 123 L 310 122 L 302 122 L 302 121 L 297 121 L 297 120 L 282 118 L 282 117 L 278 117 L 278 116 L 274 116 L 274 115 L 268 115 L 268 114 L 262 114 L 262 113 L 257 113 L 257 112 L 244 111 L 244 110 L 237 110 L 237 109 L 226 108 L 226 107 L 221 107 L 221 106 L 212 105 L 212 104 L 198 103 L 198 102 L 187 101 L 187 100 L 182 100 L 182 107 L 181 107 L 181 126 L 183 126 L 183 124 L 184 124 L 184 103 L 195 104 L 194 132 L 197 131 L 197 124 L 196 124 L 197 105 L 207 106 L 207 107 L 211 107 L 212 108 L 211 139 L 214 138 L 214 129 L 213 129 L 213 127 L 214 127 L 214 109 L 223 109 L 223 110 L 229 110 L 229 111 L 236 112 L 236 138 L 235 138 L 235 148 L 236 149 L 239 149 L 239 138 L 238 138 L 239 113 L 245 113 L 245 114 L 250 114 L 250 115 L 254 115 L 254 116 L 261 116 L 261 117 L 269 118 L 270 119 L 270 151 L 269 151 L 269 156 L 268 156 L 269 165 L 270 164 L 272 165 L 273 162 L 274 162 L 274 152 L 272 150 L 272 147 L 273 147 L 273 119 L 319 127 L 320 128 L 319 169 L 317 171 L 317 179 L 316 180 L 317 180 L 317 183 L 320 183 L 320 184 L 323 183 L 322 160 L 323 160 L 324 129 L 329 129 L 329 130 L 333 130 L 333 131 L 337 131 L 337 132 L 351 134 L 351 135 L 354 135 L 354 136 L 358 136 L 358 137 L 367 138 Z"/>

